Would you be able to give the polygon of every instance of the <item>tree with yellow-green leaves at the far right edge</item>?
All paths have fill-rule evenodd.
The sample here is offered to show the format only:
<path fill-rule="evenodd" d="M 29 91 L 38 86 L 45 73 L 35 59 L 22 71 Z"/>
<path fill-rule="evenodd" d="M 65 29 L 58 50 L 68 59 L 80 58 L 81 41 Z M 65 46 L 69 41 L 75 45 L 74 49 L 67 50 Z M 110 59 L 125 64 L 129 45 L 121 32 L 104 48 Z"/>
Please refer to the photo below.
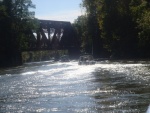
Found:
<path fill-rule="evenodd" d="M 132 0 L 130 7 L 138 30 L 140 54 L 150 56 L 150 1 Z"/>

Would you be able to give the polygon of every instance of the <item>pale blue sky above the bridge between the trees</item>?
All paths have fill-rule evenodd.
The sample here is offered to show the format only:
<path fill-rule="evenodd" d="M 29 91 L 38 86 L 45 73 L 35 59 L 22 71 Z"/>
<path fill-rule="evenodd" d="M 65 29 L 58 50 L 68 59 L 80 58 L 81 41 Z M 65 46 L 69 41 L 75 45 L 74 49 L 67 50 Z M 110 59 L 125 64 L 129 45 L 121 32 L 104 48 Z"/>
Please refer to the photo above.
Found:
<path fill-rule="evenodd" d="M 36 5 L 35 17 L 45 20 L 73 22 L 82 14 L 82 0 L 32 0 Z"/>

